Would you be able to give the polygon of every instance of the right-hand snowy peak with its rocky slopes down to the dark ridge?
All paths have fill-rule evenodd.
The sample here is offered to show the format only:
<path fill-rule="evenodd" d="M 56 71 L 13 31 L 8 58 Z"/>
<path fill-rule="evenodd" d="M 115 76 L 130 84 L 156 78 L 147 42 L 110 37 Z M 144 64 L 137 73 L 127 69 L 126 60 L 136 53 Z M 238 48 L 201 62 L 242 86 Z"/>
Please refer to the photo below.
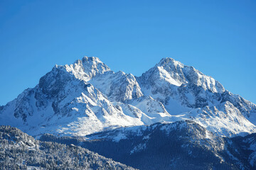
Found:
<path fill-rule="evenodd" d="M 255 104 L 193 67 L 164 58 L 137 81 L 145 96 L 161 101 L 178 120 L 195 120 L 220 135 L 255 132 Z"/>

